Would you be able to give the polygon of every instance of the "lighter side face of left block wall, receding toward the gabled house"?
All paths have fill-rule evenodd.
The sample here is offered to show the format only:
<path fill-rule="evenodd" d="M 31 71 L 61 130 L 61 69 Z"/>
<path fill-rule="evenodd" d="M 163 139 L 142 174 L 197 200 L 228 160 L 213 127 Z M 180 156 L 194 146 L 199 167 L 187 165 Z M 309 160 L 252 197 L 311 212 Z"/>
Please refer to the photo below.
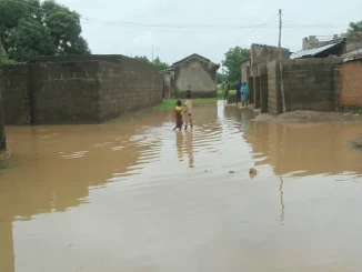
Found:
<path fill-rule="evenodd" d="M 100 62 L 101 120 L 152 107 L 162 101 L 163 78 L 154 66 L 135 59 Z"/>

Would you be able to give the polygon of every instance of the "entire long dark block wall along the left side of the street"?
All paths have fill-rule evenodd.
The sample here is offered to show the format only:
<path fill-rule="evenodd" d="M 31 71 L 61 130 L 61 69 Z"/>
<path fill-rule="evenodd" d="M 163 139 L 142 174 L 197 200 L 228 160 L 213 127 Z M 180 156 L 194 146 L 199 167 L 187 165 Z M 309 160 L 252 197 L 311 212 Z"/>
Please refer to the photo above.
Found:
<path fill-rule="evenodd" d="M 9 124 L 98 123 L 162 101 L 162 75 L 151 64 L 105 61 L 3 66 Z"/>

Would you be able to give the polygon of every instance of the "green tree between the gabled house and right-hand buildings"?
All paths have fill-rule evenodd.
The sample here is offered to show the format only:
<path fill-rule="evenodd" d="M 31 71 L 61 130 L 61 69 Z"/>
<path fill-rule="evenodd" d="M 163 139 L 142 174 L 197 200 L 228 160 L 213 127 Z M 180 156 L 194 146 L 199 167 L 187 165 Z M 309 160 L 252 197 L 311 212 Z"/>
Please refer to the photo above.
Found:
<path fill-rule="evenodd" d="M 229 70 L 229 81 L 240 80 L 241 62 L 248 58 L 250 58 L 250 49 L 247 48 L 234 47 L 225 52 L 225 60 L 222 61 L 222 64 Z"/>

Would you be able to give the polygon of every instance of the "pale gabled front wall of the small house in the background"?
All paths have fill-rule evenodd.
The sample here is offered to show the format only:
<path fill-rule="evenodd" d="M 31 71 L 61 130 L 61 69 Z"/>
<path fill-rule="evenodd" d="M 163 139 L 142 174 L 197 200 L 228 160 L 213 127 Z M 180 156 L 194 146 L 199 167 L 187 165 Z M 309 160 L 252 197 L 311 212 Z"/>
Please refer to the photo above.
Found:
<path fill-rule="evenodd" d="M 191 85 L 193 98 L 217 97 L 217 67 L 199 58 L 190 58 L 174 67 L 175 97 L 184 98 Z"/>

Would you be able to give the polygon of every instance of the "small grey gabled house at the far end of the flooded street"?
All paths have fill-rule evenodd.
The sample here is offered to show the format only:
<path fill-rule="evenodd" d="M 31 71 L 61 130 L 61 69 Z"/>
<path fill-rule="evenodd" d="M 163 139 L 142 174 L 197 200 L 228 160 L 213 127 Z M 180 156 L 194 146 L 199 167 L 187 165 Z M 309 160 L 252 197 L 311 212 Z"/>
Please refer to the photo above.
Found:
<path fill-rule="evenodd" d="M 214 98 L 219 68 L 219 64 L 197 53 L 174 62 L 161 71 L 163 98 L 184 98 L 190 87 L 193 98 Z"/>

